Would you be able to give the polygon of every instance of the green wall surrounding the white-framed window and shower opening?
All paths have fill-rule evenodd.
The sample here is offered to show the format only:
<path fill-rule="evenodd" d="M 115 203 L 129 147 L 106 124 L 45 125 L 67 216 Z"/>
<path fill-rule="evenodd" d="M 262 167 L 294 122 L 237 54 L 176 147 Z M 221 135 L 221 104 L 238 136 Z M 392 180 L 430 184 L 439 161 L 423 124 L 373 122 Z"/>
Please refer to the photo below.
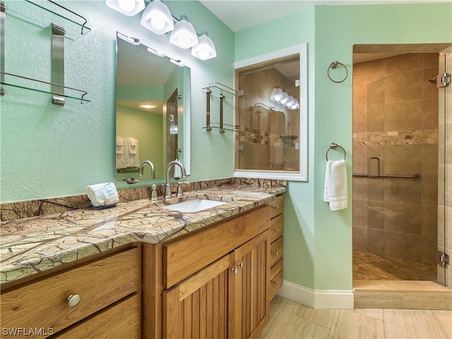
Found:
<path fill-rule="evenodd" d="M 352 189 L 353 44 L 452 42 L 452 4 L 307 8 L 238 32 L 235 60 L 304 42 L 308 44 L 309 182 L 290 182 L 285 195 L 285 280 L 314 290 L 351 290 L 351 195 L 347 210 L 332 212 L 323 202 L 323 185 L 325 153 L 335 142 L 347 150 Z M 336 60 L 349 69 L 344 83 L 333 83 L 326 76 Z"/>

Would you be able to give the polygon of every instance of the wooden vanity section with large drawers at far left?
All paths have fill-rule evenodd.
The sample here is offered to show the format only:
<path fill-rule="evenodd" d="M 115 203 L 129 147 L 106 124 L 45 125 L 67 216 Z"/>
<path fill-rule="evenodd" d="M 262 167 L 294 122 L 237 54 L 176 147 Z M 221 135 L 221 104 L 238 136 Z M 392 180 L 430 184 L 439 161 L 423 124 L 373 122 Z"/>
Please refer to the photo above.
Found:
<path fill-rule="evenodd" d="M 69 302 L 71 295 L 79 301 Z M 1 290 L 2 331 L 22 329 L 14 338 L 114 338 L 118 328 L 127 338 L 139 338 L 140 309 L 141 248 L 137 246 L 76 261 L 70 268 L 61 266 Z M 127 314 L 127 321 L 120 313 Z"/>

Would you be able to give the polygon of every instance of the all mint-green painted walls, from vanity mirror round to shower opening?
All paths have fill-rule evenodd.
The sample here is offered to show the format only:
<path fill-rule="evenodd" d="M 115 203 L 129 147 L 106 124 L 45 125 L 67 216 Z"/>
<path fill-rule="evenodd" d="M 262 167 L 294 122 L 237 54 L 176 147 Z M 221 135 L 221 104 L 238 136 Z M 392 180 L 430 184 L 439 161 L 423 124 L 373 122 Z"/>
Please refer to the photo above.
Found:
<path fill-rule="evenodd" d="M 117 30 L 162 46 L 191 67 L 190 180 L 233 173 L 232 133 L 202 129 L 203 88 L 214 81 L 232 87 L 234 61 L 307 42 L 309 182 L 290 182 L 286 194 L 285 279 L 315 290 L 351 290 L 351 201 L 347 210 L 331 212 L 322 194 L 324 155 L 332 141 L 347 150 L 351 191 L 352 45 L 452 42 L 452 4 L 315 6 L 234 35 L 198 1 L 167 1 L 174 16 L 187 15 L 196 30 L 207 30 L 215 41 L 218 57 L 199 61 L 169 45 L 167 36 L 141 28 L 139 16 L 123 16 L 103 0 L 61 3 L 88 18 L 93 30 L 79 37 L 72 28 L 72 38 L 66 39 L 66 84 L 87 90 L 92 101 L 80 105 L 68 100 L 57 107 L 47 95 L 24 90 L 9 90 L 1 97 L 0 201 L 83 194 L 89 184 L 114 181 Z M 24 19 L 23 13 L 38 10 L 30 12 L 31 5 L 23 1 L 6 5 L 18 13 L 6 17 L 6 71 L 49 81 L 49 23 L 64 22 L 44 12 Z M 326 77 L 335 60 L 350 71 L 341 84 Z M 218 112 L 214 99 L 212 121 Z M 232 105 L 227 97 L 225 120 L 230 122 Z"/>

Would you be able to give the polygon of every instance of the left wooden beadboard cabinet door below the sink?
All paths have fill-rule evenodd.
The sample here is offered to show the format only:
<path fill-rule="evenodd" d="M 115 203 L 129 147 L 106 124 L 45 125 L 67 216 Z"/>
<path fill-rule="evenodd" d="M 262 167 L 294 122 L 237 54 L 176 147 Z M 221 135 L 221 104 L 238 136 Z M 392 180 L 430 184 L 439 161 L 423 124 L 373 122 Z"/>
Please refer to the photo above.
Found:
<path fill-rule="evenodd" d="M 164 338 L 227 338 L 229 254 L 163 292 Z"/>

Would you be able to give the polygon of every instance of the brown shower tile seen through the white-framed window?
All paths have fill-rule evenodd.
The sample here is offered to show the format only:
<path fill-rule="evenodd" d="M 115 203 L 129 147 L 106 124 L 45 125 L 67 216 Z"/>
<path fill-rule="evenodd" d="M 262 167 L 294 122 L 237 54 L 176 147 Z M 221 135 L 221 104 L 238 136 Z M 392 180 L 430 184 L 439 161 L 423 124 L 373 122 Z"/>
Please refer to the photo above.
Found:
<path fill-rule="evenodd" d="M 238 88 L 245 95 L 239 99 L 236 117 L 236 144 L 240 145 L 235 153 L 237 169 L 299 170 L 299 152 L 295 149 L 295 143 L 299 143 L 299 109 L 290 110 L 270 100 L 275 85 L 299 100 L 299 88 L 276 69 L 239 75 Z"/>

